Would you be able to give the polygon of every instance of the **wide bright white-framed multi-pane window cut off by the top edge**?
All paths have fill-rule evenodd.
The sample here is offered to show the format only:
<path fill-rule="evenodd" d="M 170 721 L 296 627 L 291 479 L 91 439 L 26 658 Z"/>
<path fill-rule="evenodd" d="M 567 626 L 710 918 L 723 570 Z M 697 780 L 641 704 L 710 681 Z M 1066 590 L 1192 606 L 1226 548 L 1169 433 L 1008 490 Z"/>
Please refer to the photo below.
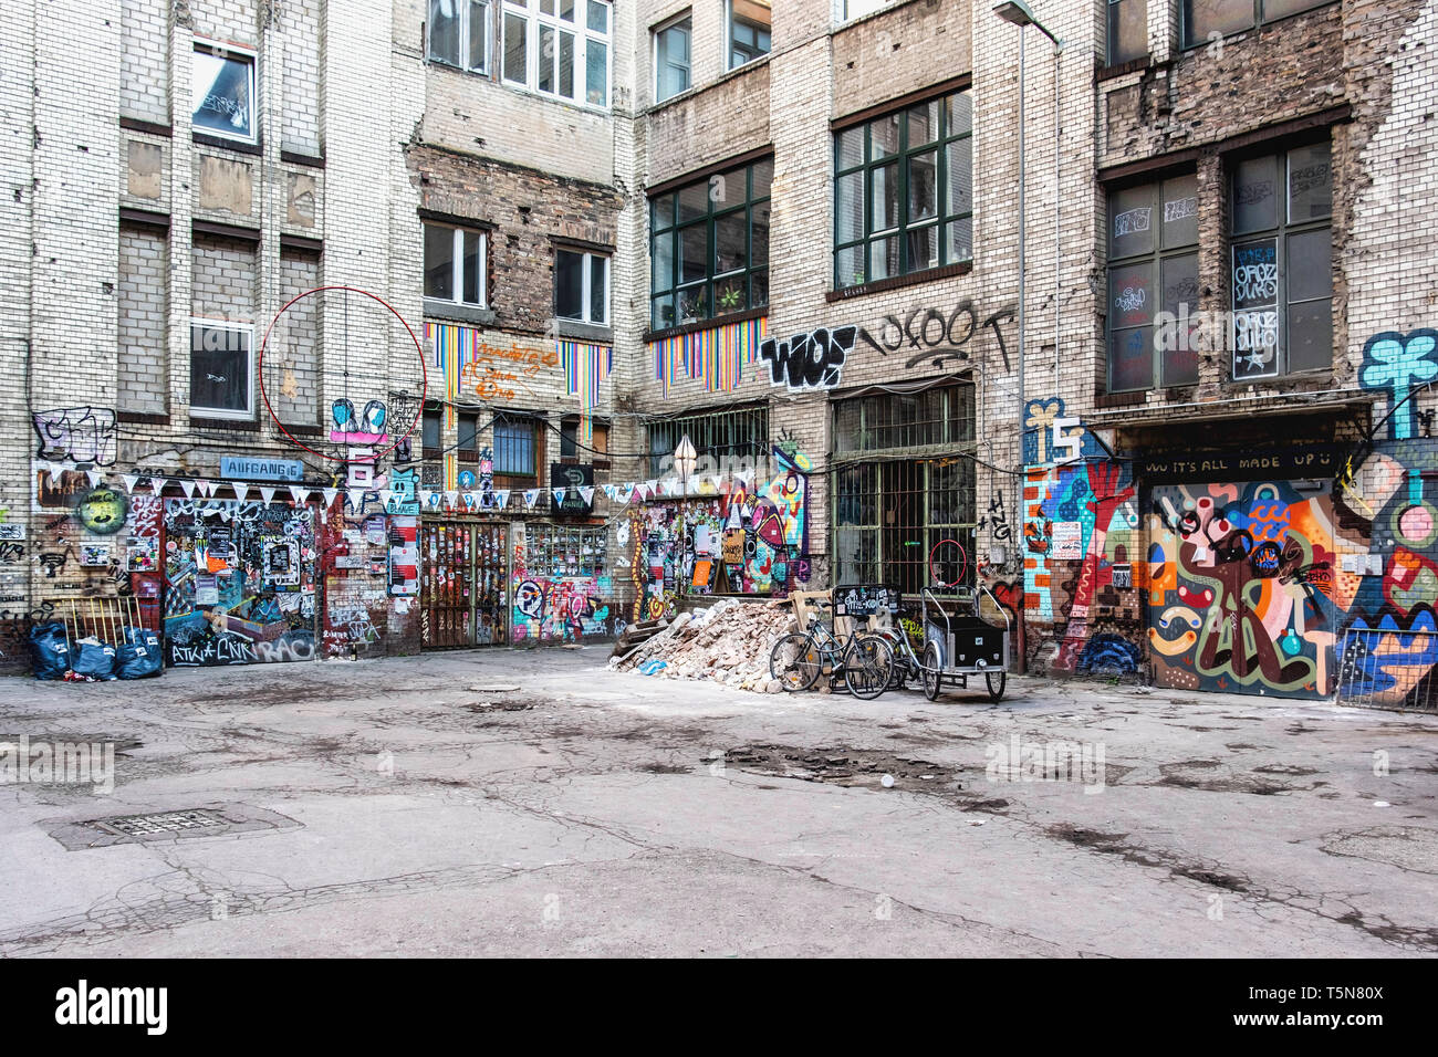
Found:
<path fill-rule="evenodd" d="M 503 0 L 503 79 L 584 106 L 608 106 L 611 6 Z"/>

